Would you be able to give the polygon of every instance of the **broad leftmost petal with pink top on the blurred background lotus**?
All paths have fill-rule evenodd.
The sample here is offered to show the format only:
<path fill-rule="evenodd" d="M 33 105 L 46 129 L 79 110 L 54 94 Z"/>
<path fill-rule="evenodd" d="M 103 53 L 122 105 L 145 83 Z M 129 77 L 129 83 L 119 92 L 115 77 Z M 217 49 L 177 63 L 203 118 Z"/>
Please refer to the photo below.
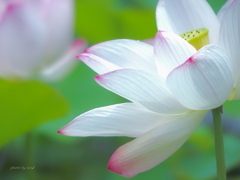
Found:
<path fill-rule="evenodd" d="M 30 4 L 10 3 L 0 22 L 0 76 L 28 78 L 40 65 L 46 29 Z"/>

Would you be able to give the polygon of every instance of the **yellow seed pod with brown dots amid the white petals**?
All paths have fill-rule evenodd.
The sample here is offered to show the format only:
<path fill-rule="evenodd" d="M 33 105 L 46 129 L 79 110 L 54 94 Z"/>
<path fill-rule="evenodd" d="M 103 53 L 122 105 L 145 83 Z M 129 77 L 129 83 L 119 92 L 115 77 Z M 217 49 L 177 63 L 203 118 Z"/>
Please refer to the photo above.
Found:
<path fill-rule="evenodd" d="M 193 45 L 197 50 L 209 44 L 207 28 L 188 31 L 180 36 Z"/>

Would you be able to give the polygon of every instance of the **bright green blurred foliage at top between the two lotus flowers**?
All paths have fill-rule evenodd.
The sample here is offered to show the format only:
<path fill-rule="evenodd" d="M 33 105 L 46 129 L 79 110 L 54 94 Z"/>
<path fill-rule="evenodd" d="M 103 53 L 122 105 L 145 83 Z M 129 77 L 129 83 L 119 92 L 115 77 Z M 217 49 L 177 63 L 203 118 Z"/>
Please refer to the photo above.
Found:
<path fill-rule="evenodd" d="M 157 29 L 156 4 L 156 0 L 78 0 L 76 34 L 90 44 L 121 38 L 152 38 Z"/>

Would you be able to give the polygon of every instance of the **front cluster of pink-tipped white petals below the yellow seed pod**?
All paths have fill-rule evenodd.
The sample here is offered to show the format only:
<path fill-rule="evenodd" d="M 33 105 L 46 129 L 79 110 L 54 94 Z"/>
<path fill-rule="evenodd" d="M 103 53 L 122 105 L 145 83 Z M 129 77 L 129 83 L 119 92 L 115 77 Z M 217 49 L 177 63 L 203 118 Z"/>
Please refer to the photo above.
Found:
<path fill-rule="evenodd" d="M 173 154 L 233 84 L 232 64 L 216 45 L 197 51 L 180 36 L 158 31 L 155 44 L 112 40 L 78 55 L 97 83 L 131 102 L 90 110 L 58 132 L 67 136 L 129 136 L 108 168 L 133 177 Z"/>

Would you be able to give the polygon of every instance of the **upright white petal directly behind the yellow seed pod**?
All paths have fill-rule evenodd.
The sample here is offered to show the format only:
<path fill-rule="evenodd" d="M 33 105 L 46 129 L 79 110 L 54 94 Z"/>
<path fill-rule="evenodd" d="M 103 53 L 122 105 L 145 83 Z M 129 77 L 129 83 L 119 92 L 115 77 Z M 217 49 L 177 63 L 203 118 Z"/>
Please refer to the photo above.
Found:
<path fill-rule="evenodd" d="M 159 0 L 156 16 L 159 30 L 180 35 L 208 28 L 210 42 L 218 42 L 219 22 L 206 0 Z"/>

